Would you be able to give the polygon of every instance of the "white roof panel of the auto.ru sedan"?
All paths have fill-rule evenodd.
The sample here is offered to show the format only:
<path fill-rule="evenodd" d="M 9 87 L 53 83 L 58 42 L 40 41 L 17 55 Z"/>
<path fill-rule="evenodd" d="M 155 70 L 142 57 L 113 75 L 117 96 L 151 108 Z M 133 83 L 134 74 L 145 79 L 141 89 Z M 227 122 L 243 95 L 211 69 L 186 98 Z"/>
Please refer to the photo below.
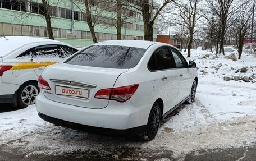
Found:
<path fill-rule="evenodd" d="M 158 42 L 142 41 L 142 40 L 109 40 L 104 42 L 99 42 L 94 45 L 118 45 L 124 47 L 134 47 L 147 49 L 153 44 Z"/>

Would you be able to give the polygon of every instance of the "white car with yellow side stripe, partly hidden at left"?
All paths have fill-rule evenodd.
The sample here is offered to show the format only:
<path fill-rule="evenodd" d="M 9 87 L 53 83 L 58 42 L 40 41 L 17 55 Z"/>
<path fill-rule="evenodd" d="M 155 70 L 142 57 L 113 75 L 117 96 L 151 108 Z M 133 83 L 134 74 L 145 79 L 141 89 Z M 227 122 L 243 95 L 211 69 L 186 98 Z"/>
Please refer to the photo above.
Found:
<path fill-rule="evenodd" d="M 44 68 L 75 52 L 77 49 L 55 40 L 0 37 L 0 103 L 19 108 L 35 103 L 39 93 L 37 80 Z"/>

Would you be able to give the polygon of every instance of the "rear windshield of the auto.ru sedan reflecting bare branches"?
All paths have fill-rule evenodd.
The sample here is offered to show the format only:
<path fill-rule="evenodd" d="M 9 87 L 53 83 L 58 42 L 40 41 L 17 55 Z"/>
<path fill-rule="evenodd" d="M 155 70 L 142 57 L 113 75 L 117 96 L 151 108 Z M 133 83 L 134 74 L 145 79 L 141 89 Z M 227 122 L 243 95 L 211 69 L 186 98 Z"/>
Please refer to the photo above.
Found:
<path fill-rule="evenodd" d="M 81 50 L 65 63 L 102 68 L 133 68 L 145 51 L 146 49 L 116 45 L 93 45 Z"/>

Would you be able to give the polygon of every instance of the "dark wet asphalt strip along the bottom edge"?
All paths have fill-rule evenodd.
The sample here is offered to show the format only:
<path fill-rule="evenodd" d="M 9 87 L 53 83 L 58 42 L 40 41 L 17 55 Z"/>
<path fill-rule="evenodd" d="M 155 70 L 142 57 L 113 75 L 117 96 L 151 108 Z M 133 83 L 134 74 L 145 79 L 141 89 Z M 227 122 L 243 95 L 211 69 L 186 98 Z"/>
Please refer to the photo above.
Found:
<path fill-rule="evenodd" d="M 4 148 L 4 147 L 2 147 Z M 15 148 L 13 151 L 6 152 L 0 148 L 0 160 L 222 160 L 222 161 L 242 161 L 242 160 L 255 160 L 256 158 L 256 145 L 243 147 L 243 148 L 229 148 L 229 149 L 204 149 L 201 151 L 191 151 L 191 153 L 186 154 L 185 157 L 182 156 L 173 158 L 172 151 L 161 151 L 161 149 L 156 149 L 154 151 L 140 151 L 139 149 L 117 149 L 117 153 L 122 151 L 122 155 L 115 157 L 115 154 L 109 153 L 108 155 L 102 155 L 99 151 L 76 151 L 75 153 L 66 153 L 62 155 L 51 155 L 51 154 L 40 154 L 40 155 L 30 155 L 17 154 Z M 107 150 L 107 149 L 106 149 Z M 153 153 L 163 152 L 161 155 L 150 155 Z M 141 156 L 141 158 L 140 158 Z M 136 159 L 133 159 L 136 158 Z"/>

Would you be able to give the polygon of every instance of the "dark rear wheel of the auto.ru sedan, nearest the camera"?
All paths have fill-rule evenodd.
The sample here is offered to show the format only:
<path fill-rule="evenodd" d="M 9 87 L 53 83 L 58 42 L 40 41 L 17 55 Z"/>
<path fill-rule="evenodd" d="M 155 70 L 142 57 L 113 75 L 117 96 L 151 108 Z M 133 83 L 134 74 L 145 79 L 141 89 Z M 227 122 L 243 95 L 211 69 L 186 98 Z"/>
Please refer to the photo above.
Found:
<path fill-rule="evenodd" d="M 161 108 L 160 105 L 155 102 L 150 111 L 147 131 L 142 135 L 143 140 L 152 140 L 157 135 L 157 131 L 161 122 Z"/>

